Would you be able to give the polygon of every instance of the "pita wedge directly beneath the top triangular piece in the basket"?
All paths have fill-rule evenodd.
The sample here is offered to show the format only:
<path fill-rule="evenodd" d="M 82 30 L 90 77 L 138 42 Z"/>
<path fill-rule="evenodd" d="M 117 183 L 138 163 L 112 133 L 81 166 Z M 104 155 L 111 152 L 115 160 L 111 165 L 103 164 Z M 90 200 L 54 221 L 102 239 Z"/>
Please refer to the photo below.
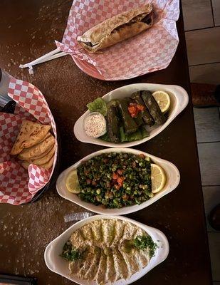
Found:
<path fill-rule="evenodd" d="M 38 155 L 42 155 L 43 152 L 49 150 L 55 143 L 55 138 L 53 135 L 50 135 L 43 142 L 39 142 L 37 145 L 33 145 L 33 147 L 26 148 L 19 153 L 20 160 L 31 160 L 33 157 Z"/>

